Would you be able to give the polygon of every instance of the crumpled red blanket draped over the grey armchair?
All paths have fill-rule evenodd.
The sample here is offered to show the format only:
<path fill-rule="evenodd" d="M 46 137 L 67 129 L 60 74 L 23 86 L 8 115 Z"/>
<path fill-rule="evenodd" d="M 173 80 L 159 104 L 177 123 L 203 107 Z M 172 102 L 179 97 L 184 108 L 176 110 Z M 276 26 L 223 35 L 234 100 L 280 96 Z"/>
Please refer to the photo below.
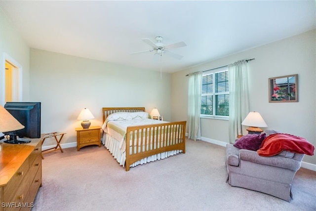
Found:
<path fill-rule="evenodd" d="M 305 138 L 276 133 L 266 137 L 257 150 L 260 156 L 274 156 L 287 150 L 294 153 L 301 153 L 306 155 L 314 155 L 315 146 L 308 142 Z"/>

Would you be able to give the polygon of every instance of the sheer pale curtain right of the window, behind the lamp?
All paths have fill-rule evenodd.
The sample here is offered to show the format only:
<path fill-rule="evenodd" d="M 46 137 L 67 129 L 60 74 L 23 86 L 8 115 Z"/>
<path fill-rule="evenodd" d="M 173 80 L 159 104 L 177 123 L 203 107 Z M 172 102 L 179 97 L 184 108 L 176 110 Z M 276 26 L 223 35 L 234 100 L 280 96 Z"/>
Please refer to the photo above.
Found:
<path fill-rule="evenodd" d="M 235 143 L 242 135 L 241 122 L 249 113 L 247 62 L 240 60 L 228 65 L 229 75 L 229 141 Z"/>

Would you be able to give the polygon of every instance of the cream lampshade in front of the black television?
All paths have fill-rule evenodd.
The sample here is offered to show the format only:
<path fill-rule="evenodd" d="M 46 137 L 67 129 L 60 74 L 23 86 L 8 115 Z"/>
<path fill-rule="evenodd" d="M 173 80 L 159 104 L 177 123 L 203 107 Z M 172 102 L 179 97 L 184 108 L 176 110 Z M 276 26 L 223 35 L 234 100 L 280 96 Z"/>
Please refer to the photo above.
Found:
<path fill-rule="evenodd" d="M 19 123 L 5 108 L 0 106 L 0 132 L 9 132 L 23 129 L 24 126 Z"/>

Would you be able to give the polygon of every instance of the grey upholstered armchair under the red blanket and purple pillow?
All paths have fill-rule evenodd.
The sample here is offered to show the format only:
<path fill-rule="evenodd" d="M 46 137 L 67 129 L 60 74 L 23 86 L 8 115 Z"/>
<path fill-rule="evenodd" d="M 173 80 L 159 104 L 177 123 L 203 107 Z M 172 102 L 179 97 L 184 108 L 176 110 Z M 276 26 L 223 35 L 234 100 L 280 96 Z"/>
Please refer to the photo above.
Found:
<path fill-rule="evenodd" d="M 304 154 L 283 151 L 272 157 L 259 156 L 256 151 L 226 146 L 227 181 L 231 186 L 266 193 L 290 202 L 291 182 Z"/>

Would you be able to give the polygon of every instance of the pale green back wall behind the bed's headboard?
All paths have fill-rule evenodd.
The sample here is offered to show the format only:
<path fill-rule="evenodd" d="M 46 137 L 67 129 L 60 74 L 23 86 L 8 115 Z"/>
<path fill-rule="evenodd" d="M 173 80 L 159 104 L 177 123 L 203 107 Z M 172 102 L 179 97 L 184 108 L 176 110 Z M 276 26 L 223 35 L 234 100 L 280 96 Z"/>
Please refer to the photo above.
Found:
<path fill-rule="evenodd" d="M 41 102 L 41 132 L 67 132 L 62 143 L 76 142 L 77 117 L 88 108 L 102 126 L 102 107 L 157 107 L 171 121 L 170 74 L 139 70 L 39 49 L 30 50 L 30 92 Z M 45 141 L 45 146 L 51 144 Z"/>

